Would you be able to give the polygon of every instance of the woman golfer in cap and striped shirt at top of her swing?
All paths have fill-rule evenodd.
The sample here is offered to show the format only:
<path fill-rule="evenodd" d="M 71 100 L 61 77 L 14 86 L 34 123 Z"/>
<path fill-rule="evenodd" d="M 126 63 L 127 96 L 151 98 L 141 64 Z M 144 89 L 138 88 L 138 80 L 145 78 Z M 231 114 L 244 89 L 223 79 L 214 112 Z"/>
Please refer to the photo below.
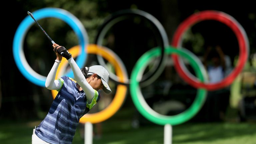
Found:
<path fill-rule="evenodd" d="M 97 91 L 102 89 L 105 93 L 111 93 L 108 86 L 109 73 L 104 67 L 94 65 L 80 70 L 63 46 L 52 46 L 57 58 L 46 78 L 45 86 L 47 89 L 57 90 L 58 94 L 44 120 L 34 129 L 32 144 L 71 144 L 79 119 L 100 99 Z M 74 79 L 63 76 L 55 80 L 62 56 L 68 60 Z"/>

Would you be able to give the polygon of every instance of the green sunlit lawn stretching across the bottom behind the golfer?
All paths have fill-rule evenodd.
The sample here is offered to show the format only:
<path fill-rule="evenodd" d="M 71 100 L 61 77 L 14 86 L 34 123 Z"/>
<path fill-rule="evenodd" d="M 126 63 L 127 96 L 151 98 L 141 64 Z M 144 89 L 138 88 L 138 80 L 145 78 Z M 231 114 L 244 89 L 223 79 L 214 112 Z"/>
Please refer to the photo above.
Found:
<path fill-rule="evenodd" d="M 102 122 L 102 136 L 94 137 L 94 144 L 163 144 L 163 126 L 149 123 L 135 129 L 131 126 L 131 119 L 124 117 L 125 112 L 118 113 Z M 41 120 L 29 122 L 0 120 L 0 143 L 31 144 L 32 130 L 40 122 Z M 77 128 L 73 144 L 84 143 L 82 132 L 81 124 Z M 255 142 L 255 122 L 187 122 L 173 126 L 173 144 L 255 144 Z"/>

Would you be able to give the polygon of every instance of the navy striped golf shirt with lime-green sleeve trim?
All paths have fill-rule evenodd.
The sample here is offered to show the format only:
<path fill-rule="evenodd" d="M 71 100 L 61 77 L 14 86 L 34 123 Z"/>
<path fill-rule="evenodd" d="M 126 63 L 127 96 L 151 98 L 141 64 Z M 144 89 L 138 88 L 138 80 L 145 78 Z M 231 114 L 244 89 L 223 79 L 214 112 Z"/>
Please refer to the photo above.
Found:
<path fill-rule="evenodd" d="M 78 90 L 75 80 L 63 76 L 59 81 L 62 87 L 35 134 L 51 144 L 71 144 L 80 118 L 99 101 L 100 95 L 95 90 L 89 104 L 84 91 Z"/>

